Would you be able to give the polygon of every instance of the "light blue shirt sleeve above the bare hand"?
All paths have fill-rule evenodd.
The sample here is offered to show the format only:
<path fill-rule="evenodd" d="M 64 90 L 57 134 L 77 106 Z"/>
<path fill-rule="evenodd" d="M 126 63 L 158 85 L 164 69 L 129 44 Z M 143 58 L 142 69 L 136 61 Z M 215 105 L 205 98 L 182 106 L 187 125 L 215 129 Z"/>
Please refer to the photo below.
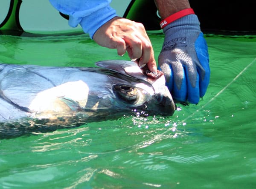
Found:
<path fill-rule="evenodd" d="M 93 38 L 95 32 L 106 22 L 116 17 L 109 4 L 111 0 L 49 0 L 52 6 L 70 16 L 71 27 L 81 25 L 85 33 Z"/>

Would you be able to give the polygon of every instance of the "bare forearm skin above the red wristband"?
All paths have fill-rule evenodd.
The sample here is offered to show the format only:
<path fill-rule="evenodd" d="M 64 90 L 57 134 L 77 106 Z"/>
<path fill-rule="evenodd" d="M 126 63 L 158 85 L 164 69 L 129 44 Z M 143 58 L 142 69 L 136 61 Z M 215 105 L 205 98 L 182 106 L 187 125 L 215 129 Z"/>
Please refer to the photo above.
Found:
<path fill-rule="evenodd" d="M 177 11 L 190 8 L 188 0 L 154 0 L 162 19 Z"/>

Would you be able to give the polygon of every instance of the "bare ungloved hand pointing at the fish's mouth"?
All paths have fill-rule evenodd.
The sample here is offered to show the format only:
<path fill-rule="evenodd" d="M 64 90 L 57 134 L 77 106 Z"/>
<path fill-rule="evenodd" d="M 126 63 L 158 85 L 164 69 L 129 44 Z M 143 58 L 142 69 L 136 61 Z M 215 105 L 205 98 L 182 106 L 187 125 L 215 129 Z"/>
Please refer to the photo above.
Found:
<path fill-rule="evenodd" d="M 147 64 L 151 72 L 157 73 L 153 48 L 143 24 L 114 17 L 95 32 L 93 40 L 100 46 L 116 49 L 120 56 L 127 51 L 140 67 Z"/>

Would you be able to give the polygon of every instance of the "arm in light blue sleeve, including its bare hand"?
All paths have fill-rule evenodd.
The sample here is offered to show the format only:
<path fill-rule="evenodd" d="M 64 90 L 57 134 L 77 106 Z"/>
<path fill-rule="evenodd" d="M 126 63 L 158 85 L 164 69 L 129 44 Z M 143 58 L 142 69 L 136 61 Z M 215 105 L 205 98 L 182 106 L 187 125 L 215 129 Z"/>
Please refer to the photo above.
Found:
<path fill-rule="evenodd" d="M 139 66 L 148 65 L 157 72 L 151 42 L 141 23 L 117 17 L 109 6 L 111 0 L 49 0 L 52 6 L 70 16 L 69 25 L 81 25 L 85 33 L 99 45 L 117 49 L 119 55 L 126 50 Z"/>

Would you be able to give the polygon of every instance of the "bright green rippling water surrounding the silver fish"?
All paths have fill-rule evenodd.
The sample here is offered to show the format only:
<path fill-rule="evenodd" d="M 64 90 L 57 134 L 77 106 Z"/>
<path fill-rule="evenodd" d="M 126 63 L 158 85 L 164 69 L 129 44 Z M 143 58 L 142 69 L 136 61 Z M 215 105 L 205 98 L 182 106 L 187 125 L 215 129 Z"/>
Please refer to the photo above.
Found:
<path fill-rule="evenodd" d="M 155 55 L 163 35 L 151 34 Z M 198 105 L 0 140 L 0 188 L 256 187 L 256 39 L 206 37 L 211 80 Z M 0 62 L 94 66 L 119 57 L 87 35 L 0 36 Z"/>

